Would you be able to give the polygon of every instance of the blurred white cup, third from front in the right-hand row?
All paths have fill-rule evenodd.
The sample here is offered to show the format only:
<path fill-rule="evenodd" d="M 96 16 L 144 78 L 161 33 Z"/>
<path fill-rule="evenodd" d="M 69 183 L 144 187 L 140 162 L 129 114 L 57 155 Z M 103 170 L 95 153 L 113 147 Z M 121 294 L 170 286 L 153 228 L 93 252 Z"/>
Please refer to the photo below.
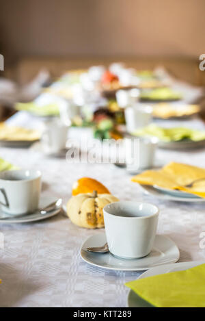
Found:
<path fill-rule="evenodd" d="M 152 107 L 134 105 L 127 107 L 125 112 L 126 131 L 133 133 L 136 129 L 146 127 L 152 121 Z"/>

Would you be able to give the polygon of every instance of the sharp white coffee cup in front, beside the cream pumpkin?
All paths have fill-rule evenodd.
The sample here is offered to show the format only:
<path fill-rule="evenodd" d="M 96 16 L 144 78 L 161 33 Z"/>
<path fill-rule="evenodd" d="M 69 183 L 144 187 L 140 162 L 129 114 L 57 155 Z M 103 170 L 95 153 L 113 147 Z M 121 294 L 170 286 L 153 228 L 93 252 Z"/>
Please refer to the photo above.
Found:
<path fill-rule="evenodd" d="M 150 203 L 122 201 L 103 209 L 109 251 L 124 259 L 145 257 L 152 251 L 159 209 Z"/>

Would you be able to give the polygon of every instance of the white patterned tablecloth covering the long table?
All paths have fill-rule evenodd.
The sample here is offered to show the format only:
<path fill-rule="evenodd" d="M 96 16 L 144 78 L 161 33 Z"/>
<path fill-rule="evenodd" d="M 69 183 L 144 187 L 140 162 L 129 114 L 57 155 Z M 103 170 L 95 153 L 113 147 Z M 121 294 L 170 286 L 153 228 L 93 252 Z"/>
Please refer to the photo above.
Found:
<path fill-rule="evenodd" d="M 18 113 L 10 123 L 19 124 L 24 115 Z M 25 122 L 28 124 L 27 119 Z M 191 124 L 204 126 L 200 120 Z M 200 248 L 200 234 L 205 232 L 202 203 L 175 203 L 146 196 L 131 182 L 131 175 L 111 164 L 70 164 L 36 149 L 1 148 L 0 157 L 21 168 L 41 170 L 44 194 L 61 197 L 64 203 L 71 196 L 72 183 L 84 176 L 98 179 L 121 200 L 155 203 L 160 208 L 158 233 L 176 242 L 180 261 L 205 259 L 205 250 Z M 170 161 L 205 164 L 204 150 L 159 150 L 157 158 L 162 165 Z M 103 230 L 81 229 L 59 214 L 33 224 L 0 224 L 0 231 L 5 237 L 5 247 L 0 250 L 1 307 L 126 307 L 128 290 L 124 283 L 137 279 L 139 273 L 95 268 L 79 256 L 81 243 Z"/>

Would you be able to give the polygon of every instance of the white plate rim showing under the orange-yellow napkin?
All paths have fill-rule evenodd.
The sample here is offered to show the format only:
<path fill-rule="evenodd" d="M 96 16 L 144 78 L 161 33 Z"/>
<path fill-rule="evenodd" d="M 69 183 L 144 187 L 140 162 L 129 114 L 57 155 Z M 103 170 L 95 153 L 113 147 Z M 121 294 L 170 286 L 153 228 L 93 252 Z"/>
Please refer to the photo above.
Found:
<path fill-rule="evenodd" d="M 191 203 L 193 202 L 202 203 L 205 201 L 205 198 L 195 197 L 194 195 L 193 197 L 174 196 L 174 195 L 162 192 L 159 189 L 156 190 L 156 188 L 153 188 L 153 186 L 149 186 L 149 185 L 140 185 L 140 186 L 143 192 L 145 192 L 146 194 L 150 194 L 164 201 L 191 202 Z"/>

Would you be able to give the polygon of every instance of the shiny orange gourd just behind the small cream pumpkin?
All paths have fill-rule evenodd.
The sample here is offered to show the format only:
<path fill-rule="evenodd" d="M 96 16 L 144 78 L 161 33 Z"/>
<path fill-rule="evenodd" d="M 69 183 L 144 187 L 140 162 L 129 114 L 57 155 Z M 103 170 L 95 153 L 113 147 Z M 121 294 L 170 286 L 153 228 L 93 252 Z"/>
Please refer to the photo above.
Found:
<path fill-rule="evenodd" d="M 96 179 L 91 179 L 90 177 L 82 177 L 74 182 L 72 185 L 72 195 L 76 196 L 82 193 L 92 193 L 94 190 L 98 192 L 98 194 L 111 194 L 107 188 L 102 185 Z"/>

